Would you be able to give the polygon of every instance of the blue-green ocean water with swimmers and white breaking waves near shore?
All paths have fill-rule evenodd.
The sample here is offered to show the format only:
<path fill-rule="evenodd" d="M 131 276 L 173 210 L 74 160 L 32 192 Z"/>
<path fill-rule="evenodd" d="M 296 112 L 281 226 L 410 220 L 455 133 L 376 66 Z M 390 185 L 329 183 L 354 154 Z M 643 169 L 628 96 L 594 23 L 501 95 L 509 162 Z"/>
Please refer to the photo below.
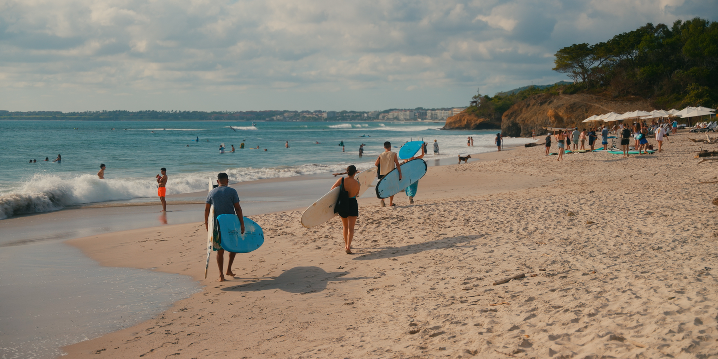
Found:
<path fill-rule="evenodd" d="M 384 141 L 400 146 L 424 139 L 429 142 L 427 159 L 434 157 L 434 139 L 439 157 L 495 150 L 496 131 L 442 131 L 442 126 L 374 121 L 256 126 L 236 121 L 0 121 L 0 219 L 83 203 L 154 198 L 160 167 L 167 168 L 167 195 L 177 195 L 205 190 L 208 178 L 218 172 L 227 172 L 235 183 L 334 172 L 348 164 L 368 168 L 383 151 Z M 471 149 L 467 136 L 475 139 Z M 527 141 L 507 138 L 505 144 Z M 227 148 L 224 154 L 220 144 Z M 365 144 L 363 158 L 358 157 L 360 144 Z M 234 153 L 229 152 L 231 145 Z M 259 149 L 251 149 L 256 146 Z M 62 162 L 51 162 L 58 154 Z M 106 180 L 96 176 L 101 163 L 107 166 Z"/>

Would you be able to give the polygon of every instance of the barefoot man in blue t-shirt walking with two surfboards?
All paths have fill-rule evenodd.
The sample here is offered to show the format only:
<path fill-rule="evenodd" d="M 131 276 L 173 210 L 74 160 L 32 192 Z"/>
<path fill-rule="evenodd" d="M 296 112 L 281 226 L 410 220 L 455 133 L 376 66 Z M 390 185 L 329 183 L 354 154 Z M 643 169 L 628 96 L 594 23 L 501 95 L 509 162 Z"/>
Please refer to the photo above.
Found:
<path fill-rule="evenodd" d="M 207 205 L 205 206 L 205 228 L 210 228 L 210 209 L 215 206 L 215 218 L 217 220 L 218 215 L 234 215 L 236 214 L 239 218 L 242 233 L 244 233 L 244 217 L 242 215 L 242 208 L 239 206 L 239 195 L 233 188 L 227 187 L 229 184 L 229 176 L 225 172 L 220 172 L 217 175 L 217 183 L 220 187 L 215 188 L 207 196 Z M 217 230 L 217 225 L 214 226 L 215 230 L 212 236 L 212 250 L 217 252 L 217 265 L 220 267 L 220 281 L 224 281 L 224 248 L 222 248 L 222 241 Z M 227 265 L 227 275 L 234 276 L 232 272 L 232 263 L 237 253 L 229 253 L 229 263 Z"/>

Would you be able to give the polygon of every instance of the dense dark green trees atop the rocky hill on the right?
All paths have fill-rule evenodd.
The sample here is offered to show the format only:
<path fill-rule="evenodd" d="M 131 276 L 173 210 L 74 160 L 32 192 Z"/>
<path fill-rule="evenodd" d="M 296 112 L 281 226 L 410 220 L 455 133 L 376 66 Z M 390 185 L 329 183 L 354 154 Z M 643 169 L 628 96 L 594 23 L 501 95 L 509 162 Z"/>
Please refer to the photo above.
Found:
<path fill-rule="evenodd" d="M 554 64 L 554 70 L 574 80 L 568 91 L 636 95 L 666 108 L 715 108 L 718 22 L 696 17 L 673 22 L 672 27 L 645 24 L 607 42 L 564 47 L 556 52 Z"/>

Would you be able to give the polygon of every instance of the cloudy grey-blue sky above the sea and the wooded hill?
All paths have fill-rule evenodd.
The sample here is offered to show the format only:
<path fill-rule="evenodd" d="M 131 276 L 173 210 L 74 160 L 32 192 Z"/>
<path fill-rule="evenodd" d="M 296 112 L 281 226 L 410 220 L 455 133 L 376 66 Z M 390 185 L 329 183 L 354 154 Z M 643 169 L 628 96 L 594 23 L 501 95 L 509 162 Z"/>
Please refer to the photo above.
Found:
<path fill-rule="evenodd" d="M 0 0 L 0 110 L 466 106 L 715 0 Z"/>

